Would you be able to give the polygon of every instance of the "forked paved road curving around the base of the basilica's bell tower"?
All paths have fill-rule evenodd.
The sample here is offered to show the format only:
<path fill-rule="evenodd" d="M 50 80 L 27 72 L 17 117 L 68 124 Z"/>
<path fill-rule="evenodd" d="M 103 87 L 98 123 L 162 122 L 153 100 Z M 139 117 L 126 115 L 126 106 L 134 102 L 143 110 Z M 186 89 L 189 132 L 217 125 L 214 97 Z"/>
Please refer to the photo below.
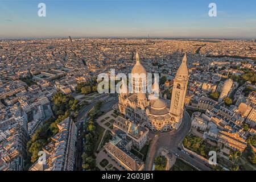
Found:
<path fill-rule="evenodd" d="M 178 150 L 181 147 L 181 143 L 185 136 L 188 134 L 191 128 L 191 121 L 187 111 L 184 111 L 183 120 L 178 130 L 173 130 L 168 133 L 152 134 L 151 147 L 149 149 L 148 158 L 146 159 L 145 171 L 151 171 L 154 159 L 160 154 L 163 149 L 170 151 L 172 154 L 178 154 L 179 158 L 184 159 L 192 166 L 198 169 L 209 171 L 210 168 L 205 166 L 204 162 L 199 158 L 192 158 L 191 156 L 185 154 L 184 152 Z"/>

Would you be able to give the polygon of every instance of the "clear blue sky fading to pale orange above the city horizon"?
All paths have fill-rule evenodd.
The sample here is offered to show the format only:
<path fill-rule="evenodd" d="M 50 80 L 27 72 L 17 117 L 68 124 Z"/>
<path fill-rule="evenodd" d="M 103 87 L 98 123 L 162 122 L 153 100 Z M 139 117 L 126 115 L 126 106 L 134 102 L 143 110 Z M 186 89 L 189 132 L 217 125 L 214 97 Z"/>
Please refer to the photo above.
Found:
<path fill-rule="evenodd" d="M 38 16 L 38 3 L 46 17 Z M 208 16 L 209 3 L 217 17 Z M 255 0 L 0 0 L 0 38 L 256 38 Z"/>

